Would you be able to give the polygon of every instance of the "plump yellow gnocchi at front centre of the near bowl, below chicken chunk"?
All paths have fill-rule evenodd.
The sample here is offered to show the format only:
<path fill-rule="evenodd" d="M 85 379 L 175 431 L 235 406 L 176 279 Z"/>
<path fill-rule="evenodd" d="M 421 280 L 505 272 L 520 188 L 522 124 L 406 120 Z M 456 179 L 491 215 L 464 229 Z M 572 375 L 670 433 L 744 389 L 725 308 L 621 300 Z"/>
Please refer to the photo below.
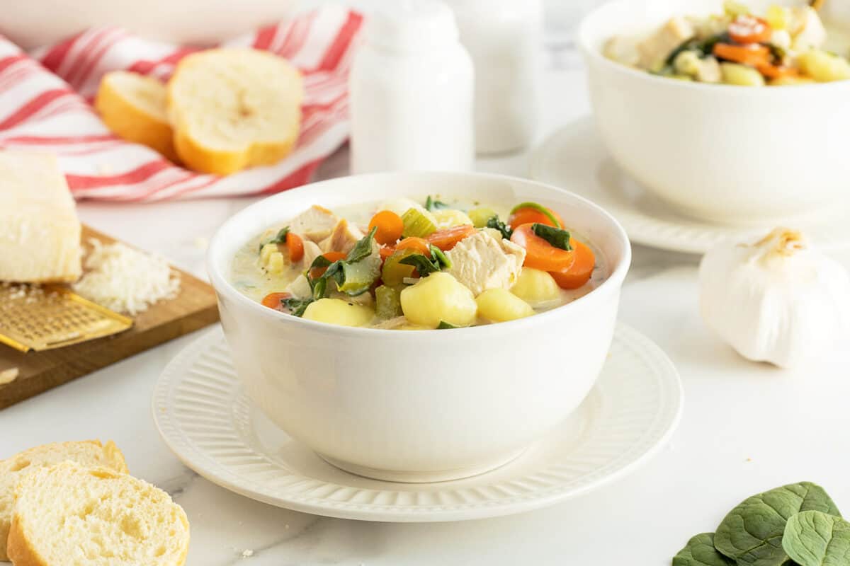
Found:
<path fill-rule="evenodd" d="M 469 326 L 478 305 L 473 292 L 449 273 L 436 272 L 402 289 L 401 311 L 416 326 L 437 328 L 440 322 Z"/>

